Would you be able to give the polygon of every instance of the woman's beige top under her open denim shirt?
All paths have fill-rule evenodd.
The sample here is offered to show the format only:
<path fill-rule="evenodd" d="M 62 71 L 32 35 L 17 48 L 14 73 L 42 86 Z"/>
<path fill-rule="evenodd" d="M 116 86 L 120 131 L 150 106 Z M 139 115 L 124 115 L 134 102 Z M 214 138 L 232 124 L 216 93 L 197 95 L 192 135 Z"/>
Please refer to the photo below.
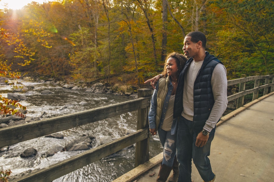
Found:
<path fill-rule="evenodd" d="M 167 104 L 167 113 L 165 115 L 165 119 L 163 121 L 163 125 L 161 129 L 165 131 L 171 130 L 171 125 L 173 122 L 173 107 L 174 107 L 175 95 L 171 95 Z"/>

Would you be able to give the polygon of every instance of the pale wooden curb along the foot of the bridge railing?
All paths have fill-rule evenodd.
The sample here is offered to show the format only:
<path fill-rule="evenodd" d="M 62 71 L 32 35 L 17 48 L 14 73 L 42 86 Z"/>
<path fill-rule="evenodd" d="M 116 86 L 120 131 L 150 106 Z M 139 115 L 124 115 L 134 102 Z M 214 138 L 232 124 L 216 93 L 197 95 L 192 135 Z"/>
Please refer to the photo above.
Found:
<path fill-rule="evenodd" d="M 220 126 L 225 121 L 231 119 L 232 117 L 236 116 L 237 114 L 241 113 L 242 111 L 248 109 L 250 106 L 252 106 L 255 103 L 260 102 L 261 100 L 265 99 L 268 96 L 273 95 L 274 92 L 266 94 L 258 99 L 255 99 L 251 101 L 250 103 L 245 104 L 244 106 L 232 111 L 231 113 L 228 113 L 227 115 L 223 116 L 220 121 L 217 123 L 217 126 Z M 135 167 L 134 169 L 130 170 L 129 172 L 125 173 L 124 175 L 118 177 L 117 179 L 113 180 L 113 182 L 133 182 L 134 180 L 138 179 L 145 173 L 147 173 L 149 170 L 153 169 L 154 167 L 158 166 L 163 160 L 163 152 L 156 155 L 155 157 L 151 158 L 149 161 L 147 161 L 144 164 L 139 165 L 138 167 Z M 156 174 L 155 174 L 156 175 Z"/>

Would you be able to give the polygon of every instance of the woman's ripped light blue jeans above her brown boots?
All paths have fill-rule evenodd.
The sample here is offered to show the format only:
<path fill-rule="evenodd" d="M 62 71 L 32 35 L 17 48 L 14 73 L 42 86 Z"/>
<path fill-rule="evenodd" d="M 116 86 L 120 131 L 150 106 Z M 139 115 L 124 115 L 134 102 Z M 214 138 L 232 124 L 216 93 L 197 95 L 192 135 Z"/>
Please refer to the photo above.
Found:
<path fill-rule="evenodd" d="M 158 136 L 163 146 L 163 162 L 162 164 L 172 167 L 173 160 L 176 155 L 176 137 L 177 134 L 171 135 L 171 131 L 165 131 L 159 127 Z"/>

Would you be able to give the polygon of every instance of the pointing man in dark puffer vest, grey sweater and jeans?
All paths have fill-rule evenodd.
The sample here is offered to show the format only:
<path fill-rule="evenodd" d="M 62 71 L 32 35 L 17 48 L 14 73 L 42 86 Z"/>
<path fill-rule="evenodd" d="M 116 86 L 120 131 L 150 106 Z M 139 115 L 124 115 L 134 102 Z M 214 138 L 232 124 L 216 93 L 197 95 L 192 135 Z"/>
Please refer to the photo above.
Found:
<path fill-rule="evenodd" d="M 206 36 L 199 31 L 184 38 L 184 55 L 189 58 L 179 75 L 174 102 L 177 130 L 178 182 L 191 182 L 191 159 L 204 182 L 213 182 L 209 161 L 216 123 L 227 107 L 226 68 L 205 51 Z M 154 85 L 160 76 L 147 80 Z M 154 86 L 153 86 L 154 87 Z"/>

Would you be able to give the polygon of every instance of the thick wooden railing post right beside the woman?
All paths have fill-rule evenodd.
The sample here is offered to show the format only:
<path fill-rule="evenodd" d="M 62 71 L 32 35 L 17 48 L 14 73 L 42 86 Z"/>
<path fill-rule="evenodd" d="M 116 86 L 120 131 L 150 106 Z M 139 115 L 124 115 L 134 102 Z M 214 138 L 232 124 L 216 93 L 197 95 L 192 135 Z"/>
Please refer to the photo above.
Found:
<path fill-rule="evenodd" d="M 151 89 L 139 89 L 138 98 L 140 97 L 151 97 Z M 143 128 L 149 128 L 149 122 L 148 122 L 149 106 L 150 106 L 150 102 L 148 102 L 146 108 L 138 110 L 137 130 L 140 130 Z M 149 129 L 147 132 L 149 135 Z M 136 143 L 135 167 L 147 161 L 149 161 L 149 137 L 145 140 L 142 140 Z"/>

